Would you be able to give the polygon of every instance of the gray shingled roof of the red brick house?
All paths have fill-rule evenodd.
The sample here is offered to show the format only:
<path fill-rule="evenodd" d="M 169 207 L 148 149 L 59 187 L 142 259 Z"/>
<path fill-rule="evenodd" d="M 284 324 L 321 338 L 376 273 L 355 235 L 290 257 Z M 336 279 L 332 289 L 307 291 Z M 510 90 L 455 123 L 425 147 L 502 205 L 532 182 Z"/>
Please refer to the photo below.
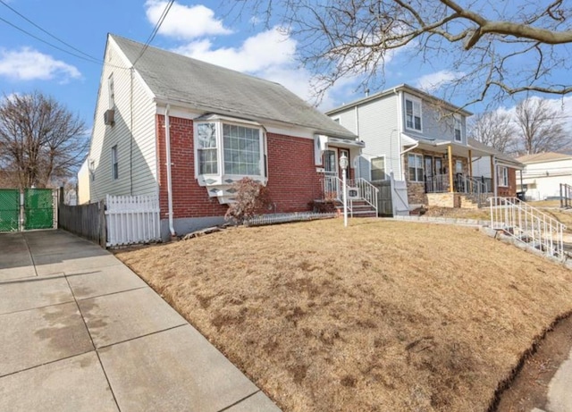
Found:
<path fill-rule="evenodd" d="M 143 45 L 110 35 L 133 63 Z M 278 83 L 231 71 L 149 46 L 135 68 L 158 98 L 197 105 L 213 113 L 233 113 L 304 126 L 332 137 L 355 139 L 313 106 Z"/>

